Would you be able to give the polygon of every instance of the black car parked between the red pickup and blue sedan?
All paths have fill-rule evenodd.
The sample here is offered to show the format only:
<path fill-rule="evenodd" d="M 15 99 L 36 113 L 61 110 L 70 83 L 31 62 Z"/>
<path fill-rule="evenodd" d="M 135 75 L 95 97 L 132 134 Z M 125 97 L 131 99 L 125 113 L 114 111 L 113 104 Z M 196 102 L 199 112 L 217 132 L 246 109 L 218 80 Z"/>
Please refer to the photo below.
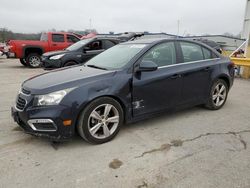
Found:
<path fill-rule="evenodd" d="M 44 53 L 41 66 L 52 69 L 84 63 L 120 42 L 119 39 L 110 37 L 83 39 L 65 50 Z"/>

